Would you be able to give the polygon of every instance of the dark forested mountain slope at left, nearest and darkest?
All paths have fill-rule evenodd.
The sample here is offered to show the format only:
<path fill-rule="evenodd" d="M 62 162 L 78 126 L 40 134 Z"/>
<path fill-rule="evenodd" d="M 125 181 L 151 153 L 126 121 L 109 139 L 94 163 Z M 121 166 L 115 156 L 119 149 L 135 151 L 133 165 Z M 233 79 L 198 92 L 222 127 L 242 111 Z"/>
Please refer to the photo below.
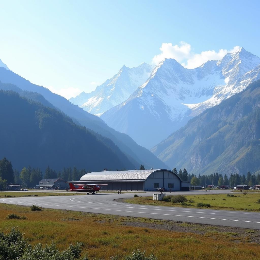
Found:
<path fill-rule="evenodd" d="M 55 170 L 76 166 L 100 171 L 135 167 L 110 139 L 40 102 L 0 90 L 0 110 L 0 158 L 11 160 L 14 168 L 31 165 L 44 171 L 49 165 Z"/>

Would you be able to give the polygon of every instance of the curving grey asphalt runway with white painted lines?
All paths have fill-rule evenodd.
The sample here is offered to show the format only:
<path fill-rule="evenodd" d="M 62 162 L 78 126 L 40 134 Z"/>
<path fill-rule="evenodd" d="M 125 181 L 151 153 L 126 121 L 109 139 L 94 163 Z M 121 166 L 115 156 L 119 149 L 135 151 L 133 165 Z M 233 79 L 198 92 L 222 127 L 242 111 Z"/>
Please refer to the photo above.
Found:
<path fill-rule="evenodd" d="M 178 192 L 174 192 L 176 194 Z M 217 193 L 228 193 L 218 191 Z M 141 193 L 142 196 L 151 196 L 153 192 Z M 205 191 L 181 192 L 181 194 L 206 194 Z M 140 194 L 139 194 L 140 195 Z M 31 206 L 33 204 L 51 209 L 67 209 L 93 213 L 112 214 L 119 216 L 145 217 L 164 220 L 175 220 L 210 225 L 232 226 L 239 228 L 260 229 L 260 213 L 194 209 L 183 207 L 162 207 L 140 204 L 128 204 L 114 201 L 120 198 L 132 198 L 133 193 L 77 196 L 50 196 L 50 197 L 25 197 L 3 198 L 1 203 Z"/>

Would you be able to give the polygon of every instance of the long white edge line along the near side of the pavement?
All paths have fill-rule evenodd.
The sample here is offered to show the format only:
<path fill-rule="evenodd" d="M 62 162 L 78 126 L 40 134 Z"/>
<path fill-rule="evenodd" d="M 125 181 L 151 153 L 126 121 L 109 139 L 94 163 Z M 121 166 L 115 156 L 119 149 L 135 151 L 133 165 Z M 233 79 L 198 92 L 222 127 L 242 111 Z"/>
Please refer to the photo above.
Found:
<path fill-rule="evenodd" d="M 3 200 L 6 201 L 6 200 Z M 16 202 L 13 201 L 14 203 L 22 203 L 22 202 Z M 28 203 L 23 203 L 23 204 L 28 204 Z M 67 206 L 67 205 L 57 205 L 57 204 L 43 204 L 43 203 L 38 203 L 38 205 L 45 205 L 45 206 L 59 206 L 59 207 L 72 207 L 72 208 L 80 208 L 80 209 L 93 209 L 93 210 L 110 210 L 110 211 L 120 211 L 120 212 L 129 212 L 129 213 L 141 213 L 141 214 L 152 214 L 152 215 L 164 215 L 164 216 L 175 216 L 175 217 L 187 217 L 187 218 L 203 218 L 203 219 L 215 219 L 215 220 L 226 220 L 226 221 L 236 221 L 236 222 L 247 222 L 247 223 L 258 223 L 256 221 L 248 221 L 248 220 L 236 220 L 236 219 L 224 219 L 224 218 L 207 218 L 207 217 L 196 217 L 196 216 L 185 216 L 185 215 L 173 215 L 173 214 L 162 214 L 162 213 L 152 213 L 152 212 L 139 212 L 139 211 L 127 211 L 127 210 L 113 210 L 113 209 L 101 209 L 101 208 L 90 208 L 90 207 L 77 207 L 77 206 Z M 29 206 L 29 205 L 27 205 Z M 98 212 L 95 212 L 98 213 Z"/>

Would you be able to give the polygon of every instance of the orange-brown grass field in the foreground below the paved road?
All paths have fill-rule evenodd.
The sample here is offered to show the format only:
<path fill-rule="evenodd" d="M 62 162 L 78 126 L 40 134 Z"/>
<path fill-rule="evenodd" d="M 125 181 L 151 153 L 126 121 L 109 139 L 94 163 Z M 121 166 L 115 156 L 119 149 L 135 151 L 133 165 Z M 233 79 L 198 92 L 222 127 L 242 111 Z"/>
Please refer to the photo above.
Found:
<path fill-rule="evenodd" d="M 25 216 L 26 219 L 6 219 L 10 213 Z M 152 223 L 157 221 L 142 220 Z M 260 258 L 260 245 L 250 243 L 248 237 L 258 231 L 249 230 L 246 232 L 248 235 L 241 236 L 240 232 L 218 232 L 217 228 L 211 229 L 209 226 L 204 235 L 198 235 L 187 231 L 133 227 L 126 225 L 126 221 L 140 220 L 67 210 L 30 211 L 26 206 L 0 204 L 0 231 L 6 233 L 11 227 L 17 226 L 31 244 L 49 244 L 54 241 L 60 249 L 83 242 L 82 255 L 88 253 L 90 259 L 109 260 L 114 255 L 119 255 L 121 259 L 136 249 L 153 252 L 160 260 L 230 259 L 232 255 L 245 260 Z M 199 227 L 190 223 L 177 225 L 185 230 Z"/>

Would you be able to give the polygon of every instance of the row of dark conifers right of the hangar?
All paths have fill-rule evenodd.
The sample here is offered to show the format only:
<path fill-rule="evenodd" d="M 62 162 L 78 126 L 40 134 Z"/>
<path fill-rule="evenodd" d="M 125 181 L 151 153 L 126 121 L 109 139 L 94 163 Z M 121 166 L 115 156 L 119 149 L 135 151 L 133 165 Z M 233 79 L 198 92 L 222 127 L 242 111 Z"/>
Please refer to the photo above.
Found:
<path fill-rule="evenodd" d="M 213 185 L 213 186 L 229 186 L 234 187 L 236 185 L 248 185 L 249 187 L 260 185 L 260 174 L 251 174 L 248 172 L 245 176 L 239 175 L 238 173 L 230 174 L 228 177 L 226 174 L 223 175 L 219 174 L 218 172 L 214 172 L 210 175 L 198 175 L 196 174 L 187 174 L 187 170 L 184 168 L 183 171 L 180 169 L 179 172 L 176 168 L 173 168 L 172 170 L 174 173 L 176 173 L 181 180 L 187 180 L 191 181 L 191 185 L 200 185 L 200 186 L 206 186 L 206 185 Z"/>

